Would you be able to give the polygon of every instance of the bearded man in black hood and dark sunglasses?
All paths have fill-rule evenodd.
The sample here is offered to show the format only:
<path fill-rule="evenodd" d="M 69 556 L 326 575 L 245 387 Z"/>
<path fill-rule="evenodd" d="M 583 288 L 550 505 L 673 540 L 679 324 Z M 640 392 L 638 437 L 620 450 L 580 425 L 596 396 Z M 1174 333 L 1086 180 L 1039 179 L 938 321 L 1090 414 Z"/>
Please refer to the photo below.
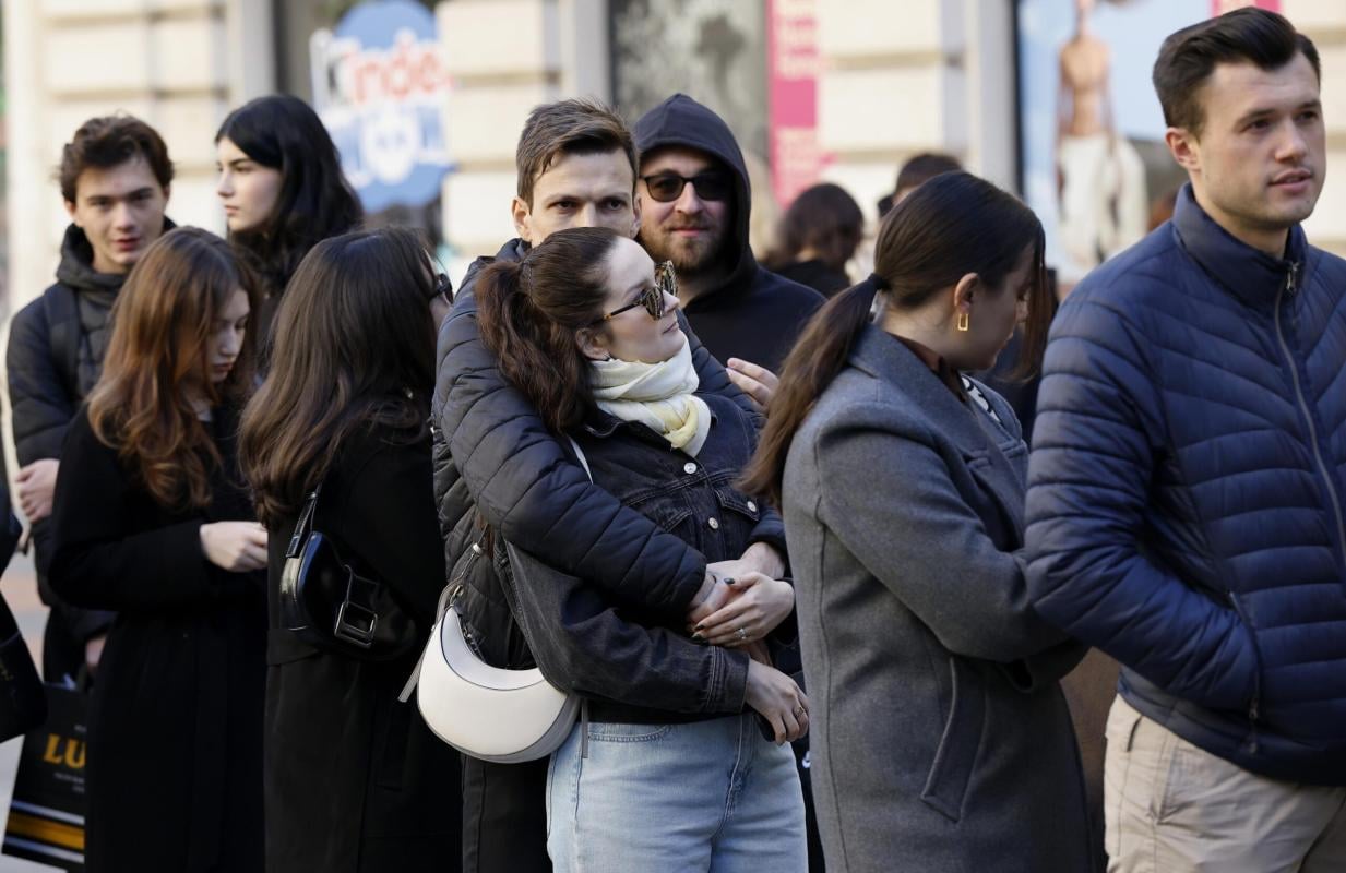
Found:
<path fill-rule="evenodd" d="M 771 273 L 748 246 L 743 152 L 717 114 L 674 94 L 635 122 L 641 245 L 673 261 L 678 297 L 705 347 L 759 404 L 822 295 Z"/>

